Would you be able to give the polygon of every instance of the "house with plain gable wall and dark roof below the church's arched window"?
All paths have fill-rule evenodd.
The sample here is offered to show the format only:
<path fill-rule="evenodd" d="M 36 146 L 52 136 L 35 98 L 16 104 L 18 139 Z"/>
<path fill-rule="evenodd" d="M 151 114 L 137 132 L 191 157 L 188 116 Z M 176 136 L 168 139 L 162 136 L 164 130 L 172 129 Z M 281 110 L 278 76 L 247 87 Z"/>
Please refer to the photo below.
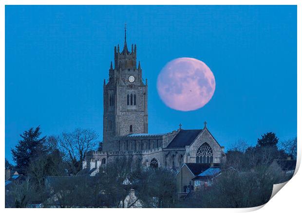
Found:
<path fill-rule="evenodd" d="M 209 168 L 220 168 L 220 163 L 184 163 L 176 174 L 177 193 L 187 194 L 194 190 L 193 178 Z"/>

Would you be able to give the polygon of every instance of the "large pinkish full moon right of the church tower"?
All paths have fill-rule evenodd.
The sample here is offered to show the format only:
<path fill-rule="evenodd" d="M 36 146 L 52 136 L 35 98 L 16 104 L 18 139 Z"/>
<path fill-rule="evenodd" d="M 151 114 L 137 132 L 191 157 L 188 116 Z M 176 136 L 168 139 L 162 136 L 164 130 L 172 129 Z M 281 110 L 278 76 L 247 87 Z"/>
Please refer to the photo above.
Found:
<path fill-rule="evenodd" d="M 196 110 L 211 100 L 215 78 L 204 62 L 195 58 L 176 58 L 160 71 L 157 91 L 162 101 L 172 109 Z"/>

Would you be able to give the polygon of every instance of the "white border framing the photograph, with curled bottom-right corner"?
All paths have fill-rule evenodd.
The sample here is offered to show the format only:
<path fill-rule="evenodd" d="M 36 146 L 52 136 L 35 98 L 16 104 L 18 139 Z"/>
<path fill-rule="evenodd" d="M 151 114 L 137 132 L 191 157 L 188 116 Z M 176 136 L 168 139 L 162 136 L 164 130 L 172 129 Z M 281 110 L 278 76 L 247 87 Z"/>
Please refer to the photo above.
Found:
<path fill-rule="evenodd" d="M 20 1 L 20 0 L 1 0 L 0 1 L 0 100 L 3 100 L 0 105 L 0 141 L 2 142 L 2 147 L 4 146 L 4 141 L 5 141 L 5 125 L 4 125 L 4 119 L 5 119 L 5 111 L 4 111 L 4 95 L 5 95 L 5 5 L 31 5 L 31 4 L 38 4 L 38 5 L 97 5 L 97 4 L 104 4 L 104 5 L 114 5 L 114 4 L 140 4 L 140 5 L 148 5 L 148 4 L 190 4 L 190 5 L 197 5 L 197 4 L 203 4 L 203 5 L 214 5 L 214 4 L 220 4 L 220 5 L 276 5 L 276 4 L 286 4 L 286 5 L 298 5 L 297 6 L 297 12 L 298 12 L 298 22 L 297 22 L 297 27 L 298 27 L 298 32 L 297 32 L 297 38 L 298 38 L 298 49 L 297 49 L 297 57 L 298 57 L 298 72 L 297 72 L 297 86 L 298 86 L 298 93 L 297 93 L 297 101 L 298 101 L 298 124 L 297 128 L 298 131 L 298 158 L 297 158 L 297 169 L 295 174 L 298 171 L 298 168 L 300 166 L 301 162 L 301 142 L 300 138 L 302 137 L 301 135 L 301 129 L 302 129 L 302 120 L 301 120 L 301 109 L 302 109 L 302 70 L 301 70 L 301 58 L 302 58 L 302 43 L 301 43 L 301 38 L 302 38 L 302 3 L 299 0 L 146 0 L 144 2 L 141 2 L 141 0 L 111 0 L 109 2 L 100 2 L 98 0 L 73 0 L 73 1 L 68 1 L 68 0 L 26 0 L 26 1 Z M 2 156 L 2 161 L 1 165 L 2 168 L 4 168 L 4 156 L 5 156 L 5 149 L 2 150 L 1 153 Z M 300 172 L 301 173 L 301 172 Z M 280 195 L 275 195 L 272 200 L 270 200 L 266 205 L 265 208 L 262 208 L 260 211 L 274 211 L 274 212 L 297 212 L 298 209 L 300 209 L 300 196 L 302 192 L 302 187 L 301 187 L 301 174 L 298 173 L 298 176 L 295 175 L 286 185 L 288 187 L 284 187 L 282 189 L 282 193 L 278 193 Z M 1 206 L 4 208 L 4 170 L 1 171 L 2 174 L 2 183 L 1 184 L 1 192 L 3 193 L 1 196 Z M 284 191 L 284 193 L 283 193 Z M 262 207 L 262 206 L 261 206 Z M 249 209 L 203 209 L 201 211 L 206 211 L 206 212 L 250 212 L 250 211 L 255 211 L 260 209 L 261 207 L 255 207 L 255 208 L 249 208 Z M 72 209 L 72 211 L 83 211 L 84 209 Z M 105 212 L 112 212 L 112 211 L 144 211 L 144 212 L 151 212 L 154 211 L 153 209 L 87 209 L 88 211 L 105 211 Z M 7 212 L 11 211 L 19 211 L 17 209 L 5 209 Z M 40 211 L 39 209 L 23 209 L 21 211 L 25 212 L 31 212 L 31 211 Z M 43 209 L 43 211 L 53 211 L 49 209 Z M 57 211 L 68 211 L 64 209 L 57 209 Z M 84 210 L 85 211 L 85 210 Z M 157 209 L 157 211 L 166 211 L 165 209 Z M 172 211 L 183 211 L 182 209 L 173 209 Z M 193 210 L 192 211 L 199 211 L 199 210 Z"/>

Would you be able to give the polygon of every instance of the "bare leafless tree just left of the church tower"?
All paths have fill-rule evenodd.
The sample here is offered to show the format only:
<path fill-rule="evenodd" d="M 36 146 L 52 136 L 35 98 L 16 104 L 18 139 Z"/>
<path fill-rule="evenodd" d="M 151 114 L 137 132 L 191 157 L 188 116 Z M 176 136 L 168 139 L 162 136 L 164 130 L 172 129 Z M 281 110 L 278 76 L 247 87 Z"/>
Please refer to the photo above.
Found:
<path fill-rule="evenodd" d="M 89 150 L 95 148 L 98 135 L 90 129 L 77 128 L 71 133 L 63 132 L 59 139 L 59 146 L 69 160 L 73 174 L 82 168 L 82 162 Z"/>

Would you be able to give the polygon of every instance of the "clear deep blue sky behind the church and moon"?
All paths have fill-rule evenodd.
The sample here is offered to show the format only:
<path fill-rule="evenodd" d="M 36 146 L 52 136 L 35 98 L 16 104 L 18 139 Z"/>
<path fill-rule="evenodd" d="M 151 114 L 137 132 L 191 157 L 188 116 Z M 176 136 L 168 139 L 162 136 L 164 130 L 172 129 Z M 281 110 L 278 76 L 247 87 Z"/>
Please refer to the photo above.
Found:
<path fill-rule="evenodd" d="M 297 135 L 296 6 L 6 6 L 5 157 L 19 134 L 92 128 L 102 139 L 103 79 L 113 47 L 137 44 L 149 85 L 149 132 L 208 129 L 221 145 L 255 144 L 273 131 Z M 201 109 L 183 112 L 159 98 L 170 60 L 193 57 L 214 73 Z"/>

